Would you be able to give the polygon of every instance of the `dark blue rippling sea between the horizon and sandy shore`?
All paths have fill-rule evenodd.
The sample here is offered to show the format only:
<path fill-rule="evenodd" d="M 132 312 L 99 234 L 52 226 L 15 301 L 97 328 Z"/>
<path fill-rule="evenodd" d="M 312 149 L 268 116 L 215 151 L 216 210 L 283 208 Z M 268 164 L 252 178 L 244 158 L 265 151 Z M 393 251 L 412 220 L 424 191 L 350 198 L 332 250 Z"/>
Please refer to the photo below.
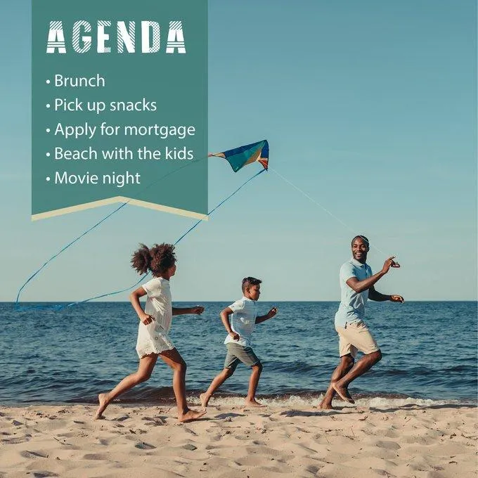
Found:
<path fill-rule="evenodd" d="M 196 303 L 175 302 L 186 307 Z M 175 316 L 170 336 L 186 363 L 188 396 L 197 397 L 222 370 L 226 302 L 202 303 L 202 316 Z M 337 364 L 337 302 L 260 302 L 278 315 L 256 326 L 254 351 L 264 364 L 258 395 L 316 403 Z M 44 304 L 42 304 L 44 305 Z M 138 318 L 129 302 L 99 302 L 60 311 L 15 311 L 0 303 L 0 403 L 95 403 L 134 372 Z M 351 384 L 358 403 L 477 403 L 476 302 L 369 302 L 366 323 L 383 359 Z M 240 365 L 219 389 L 224 403 L 247 392 Z M 172 401 L 172 372 L 158 360 L 153 375 L 121 403 Z M 213 404 L 213 402 L 212 402 Z"/>

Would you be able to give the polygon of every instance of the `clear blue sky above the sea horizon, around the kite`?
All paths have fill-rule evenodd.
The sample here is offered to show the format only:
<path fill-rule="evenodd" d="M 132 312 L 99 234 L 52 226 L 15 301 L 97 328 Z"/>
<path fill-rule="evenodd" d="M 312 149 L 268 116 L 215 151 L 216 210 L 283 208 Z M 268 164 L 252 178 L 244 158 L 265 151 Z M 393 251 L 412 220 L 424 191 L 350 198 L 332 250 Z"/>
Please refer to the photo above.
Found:
<path fill-rule="evenodd" d="M 0 4 L 0 300 L 116 206 L 30 220 L 30 2 Z M 472 0 L 209 1 L 209 149 L 267 138 L 271 171 L 178 247 L 175 300 L 338 300 L 355 233 L 402 268 L 408 300 L 477 299 L 477 6 Z M 209 163 L 209 209 L 259 170 Z M 334 217 L 319 206 L 322 205 Z M 124 207 L 62 254 L 24 300 L 133 285 L 138 243 L 193 220 Z M 113 297 L 126 300 L 127 293 Z"/>

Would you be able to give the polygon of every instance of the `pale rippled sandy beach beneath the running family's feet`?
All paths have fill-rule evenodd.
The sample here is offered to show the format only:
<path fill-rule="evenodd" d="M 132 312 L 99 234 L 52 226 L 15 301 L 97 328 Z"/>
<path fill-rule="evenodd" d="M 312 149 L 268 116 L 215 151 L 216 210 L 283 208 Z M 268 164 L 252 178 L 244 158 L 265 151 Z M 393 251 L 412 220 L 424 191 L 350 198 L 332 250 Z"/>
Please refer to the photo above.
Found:
<path fill-rule="evenodd" d="M 213 399 L 181 425 L 165 406 L 2 406 L 0 477 L 477 476 L 476 408 L 337 405 Z"/>

